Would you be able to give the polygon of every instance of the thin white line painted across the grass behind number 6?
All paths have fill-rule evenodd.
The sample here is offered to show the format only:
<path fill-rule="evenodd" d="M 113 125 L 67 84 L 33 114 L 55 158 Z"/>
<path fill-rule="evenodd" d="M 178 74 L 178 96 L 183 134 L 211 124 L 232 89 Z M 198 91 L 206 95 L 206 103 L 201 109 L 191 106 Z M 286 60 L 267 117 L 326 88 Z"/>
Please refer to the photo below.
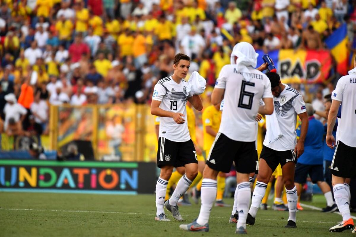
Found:
<path fill-rule="evenodd" d="M 7 211 L 53 211 L 53 212 L 80 212 L 80 213 L 101 213 L 101 214 L 129 214 L 129 215 L 155 215 L 152 213 L 135 213 L 135 212 L 118 212 L 118 211 L 83 211 L 83 210 L 46 210 L 46 209 L 20 209 L 20 208 L 0 208 L 0 210 L 7 210 Z M 193 217 L 193 216 L 187 216 Z M 223 218 L 221 216 L 211 216 L 210 218 Z M 282 219 L 263 219 L 258 218 L 258 220 L 265 220 L 265 221 L 286 221 Z M 335 222 L 324 222 L 324 221 L 300 221 L 297 222 L 313 222 L 313 223 L 335 223 Z"/>

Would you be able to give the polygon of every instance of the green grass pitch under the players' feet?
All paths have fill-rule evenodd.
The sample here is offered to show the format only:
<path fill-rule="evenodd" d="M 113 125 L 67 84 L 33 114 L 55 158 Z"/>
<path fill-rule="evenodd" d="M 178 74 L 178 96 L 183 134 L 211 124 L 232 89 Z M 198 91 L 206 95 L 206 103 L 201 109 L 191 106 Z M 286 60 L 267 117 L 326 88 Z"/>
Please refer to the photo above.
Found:
<path fill-rule="evenodd" d="M 225 199 L 232 204 L 232 199 Z M 324 207 L 323 196 L 314 196 L 306 204 Z M 154 195 L 89 195 L 50 193 L 0 193 L 0 236 L 234 236 L 235 224 L 229 223 L 231 208 L 214 207 L 210 232 L 190 233 L 179 229 L 199 214 L 200 205 L 181 207 L 184 222 L 155 221 Z M 341 216 L 304 209 L 297 213 L 297 228 L 284 228 L 287 211 L 259 210 L 250 236 L 352 236 L 351 230 L 329 233 Z"/>

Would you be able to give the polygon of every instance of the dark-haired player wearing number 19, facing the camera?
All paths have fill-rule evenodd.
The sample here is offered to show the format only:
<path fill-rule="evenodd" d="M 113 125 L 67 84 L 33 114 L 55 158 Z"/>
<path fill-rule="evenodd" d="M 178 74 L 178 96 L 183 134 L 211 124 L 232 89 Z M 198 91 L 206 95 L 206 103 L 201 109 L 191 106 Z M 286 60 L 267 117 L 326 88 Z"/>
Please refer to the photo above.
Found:
<path fill-rule="evenodd" d="M 173 75 L 159 80 L 152 95 L 151 114 L 161 117 L 157 151 L 157 166 L 161 168 L 156 184 L 157 221 L 169 221 L 164 214 L 163 206 L 172 212 L 174 219 L 183 221 L 177 202 L 198 174 L 197 153 L 184 117 L 187 114 L 185 108 L 187 101 L 197 110 L 203 109 L 203 105 L 199 95 L 187 93 L 187 82 L 184 78 L 187 76 L 189 65 L 189 56 L 184 54 L 174 56 Z M 185 174 L 178 181 L 171 198 L 164 203 L 173 167 L 182 166 L 185 166 Z"/>

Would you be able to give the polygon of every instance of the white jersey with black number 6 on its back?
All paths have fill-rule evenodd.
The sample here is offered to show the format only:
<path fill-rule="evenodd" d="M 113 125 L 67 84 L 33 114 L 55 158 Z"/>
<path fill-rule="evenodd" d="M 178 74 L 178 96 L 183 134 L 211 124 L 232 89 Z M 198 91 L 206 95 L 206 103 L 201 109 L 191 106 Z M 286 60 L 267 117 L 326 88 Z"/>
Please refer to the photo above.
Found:
<path fill-rule="evenodd" d="M 268 77 L 252 67 L 249 70 L 242 74 L 236 65 L 225 65 L 215 83 L 216 88 L 225 89 L 219 132 L 235 141 L 256 141 L 260 100 L 273 97 Z"/>

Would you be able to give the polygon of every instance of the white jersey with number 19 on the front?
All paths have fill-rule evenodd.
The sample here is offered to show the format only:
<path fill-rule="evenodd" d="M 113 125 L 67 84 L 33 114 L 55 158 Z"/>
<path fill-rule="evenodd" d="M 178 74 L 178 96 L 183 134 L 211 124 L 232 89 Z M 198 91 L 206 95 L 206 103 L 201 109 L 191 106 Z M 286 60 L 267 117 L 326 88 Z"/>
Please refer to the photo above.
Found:
<path fill-rule="evenodd" d="M 159 137 L 166 138 L 171 141 L 189 141 L 190 135 L 187 123 L 187 104 L 188 97 L 187 82 L 182 81 L 177 84 L 171 76 L 163 78 L 155 85 L 152 99 L 161 101 L 159 108 L 165 111 L 172 111 L 174 113 L 182 113 L 185 115 L 185 123 L 177 124 L 173 118 L 161 117 L 159 123 Z"/>

